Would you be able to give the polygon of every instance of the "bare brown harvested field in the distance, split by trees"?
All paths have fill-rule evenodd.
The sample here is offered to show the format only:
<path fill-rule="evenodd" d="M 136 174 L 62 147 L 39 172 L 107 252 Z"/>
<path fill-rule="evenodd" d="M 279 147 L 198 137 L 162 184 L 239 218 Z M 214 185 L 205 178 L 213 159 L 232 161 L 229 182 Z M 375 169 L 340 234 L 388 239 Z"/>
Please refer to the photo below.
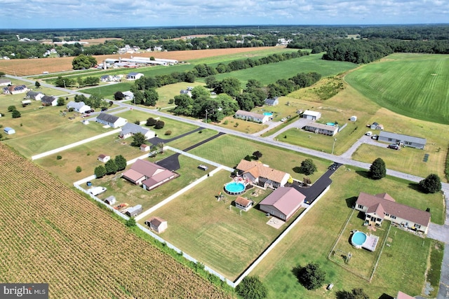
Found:
<path fill-rule="evenodd" d="M 232 49 L 212 49 L 212 50 L 187 50 L 172 52 L 147 52 L 139 54 L 123 54 L 123 55 L 98 55 L 95 56 L 98 62 L 102 62 L 106 58 L 130 58 L 131 56 L 167 58 L 179 61 L 196 60 L 199 58 L 229 55 L 236 53 L 246 53 L 259 51 L 273 47 L 260 48 L 232 48 Z M 15 76 L 30 76 L 42 74 L 43 71 L 55 73 L 59 71 L 72 71 L 72 60 L 74 57 L 58 57 L 58 58 L 39 58 L 35 60 L 0 60 L 0 71 Z"/>

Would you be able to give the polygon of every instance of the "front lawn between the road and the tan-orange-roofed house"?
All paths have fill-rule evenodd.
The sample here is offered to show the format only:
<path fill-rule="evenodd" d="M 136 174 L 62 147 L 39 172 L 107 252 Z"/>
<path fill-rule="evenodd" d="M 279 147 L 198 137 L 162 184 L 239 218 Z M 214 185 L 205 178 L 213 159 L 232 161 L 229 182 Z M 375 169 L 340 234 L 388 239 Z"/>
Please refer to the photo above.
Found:
<path fill-rule="evenodd" d="M 267 164 L 274 169 L 288 172 L 293 176 L 293 179 L 302 181 L 304 178 L 304 174 L 296 173 L 294 169 L 295 167 L 299 167 L 303 160 L 310 158 L 307 155 L 276 148 L 275 146 L 269 146 L 267 144 L 259 144 L 239 137 L 223 135 L 192 149 L 189 153 L 213 160 L 228 167 L 235 167 L 239 164 L 241 159 L 245 158 L 246 155 L 253 155 L 255 151 L 260 151 L 262 153 L 260 162 Z M 312 160 L 314 160 L 318 169 L 317 172 L 309 176 L 313 182 L 316 181 L 316 179 L 319 179 L 321 174 L 327 171 L 329 161 L 320 158 L 312 158 Z"/>

